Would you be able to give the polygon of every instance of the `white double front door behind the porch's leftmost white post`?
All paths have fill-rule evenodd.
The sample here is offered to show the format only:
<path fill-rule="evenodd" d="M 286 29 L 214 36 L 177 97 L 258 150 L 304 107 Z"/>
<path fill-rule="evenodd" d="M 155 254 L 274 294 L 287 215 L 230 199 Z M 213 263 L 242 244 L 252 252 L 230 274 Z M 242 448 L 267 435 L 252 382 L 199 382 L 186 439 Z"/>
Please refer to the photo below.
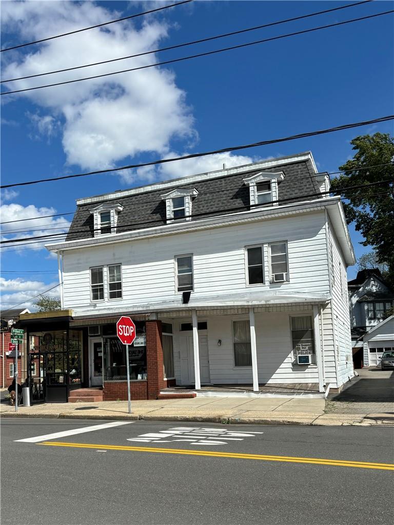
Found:
<path fill-rule="evenodd" d="M 194 384 L 194 351 L 193 335 L 180 335 L 181 382 L 183 385 Z M 211 382 L 209 372 L 208 335 L 199 334 L 200 381 L 201 384 Z"/>

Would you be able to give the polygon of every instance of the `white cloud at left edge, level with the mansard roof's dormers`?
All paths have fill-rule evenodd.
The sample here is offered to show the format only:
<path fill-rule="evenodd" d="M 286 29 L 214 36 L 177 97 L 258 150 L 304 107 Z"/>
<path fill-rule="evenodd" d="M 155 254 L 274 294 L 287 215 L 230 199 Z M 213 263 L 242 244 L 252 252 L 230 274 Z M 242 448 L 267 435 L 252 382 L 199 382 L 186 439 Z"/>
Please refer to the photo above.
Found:
<path fill-rule="evenodd" d="M 63 240 L 68 232 L 68 228 L 70 227 L 70 222 L 65 217 L 47 217 L 47 215 L 54 214 L 56 214 L 55 208 L 38 208 L 33 204 L 22 206 L 20 204 L 11 203 L 0 206 L 0 216 L 2 221 L 0 229 L 1 240 L 20 239 L 20 243 L 2 245 L 2 251 L 17 250 L 17 253 L 25 254 L 25 251 L 22 251 L 25 247 L 36 250 L 45 249 L 44 243 L 39 243 L 38 241 L 37 243 L 34 243 L 34 241 L 32 242 L 31 240 L 22 240 L 26 237 L 60 234 L 57 235 L 55 239 Z M 32 219 L 31 217 L 38 218 Z M 47 239 L 39 240 L 46 240 L 49 242 Z M 27 245 L 25 243 L 29 244 Z M 23 244 L 23 246 L 20 246 L 20 244 Z"/>

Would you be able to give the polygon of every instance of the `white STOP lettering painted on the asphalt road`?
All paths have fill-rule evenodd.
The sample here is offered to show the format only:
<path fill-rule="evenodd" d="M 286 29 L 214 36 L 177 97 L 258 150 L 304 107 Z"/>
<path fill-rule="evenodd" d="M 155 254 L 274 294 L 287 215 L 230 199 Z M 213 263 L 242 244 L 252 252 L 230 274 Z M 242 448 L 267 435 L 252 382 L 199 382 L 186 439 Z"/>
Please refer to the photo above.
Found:
<path fill-rule="evenodd" d="M 129 437 L 127 440 L 145 443 L 184 441 L 192 445 L 229 445 L 231 441 L 242 441 L 245 437 L 255 437 L 255 434 L 263 434 L 263 432 L 236 432 L 226 428 L 173 427 L 167 430 L 160 430 L 159 432 L 141 434 L 136 438 Z M 169 439 L 171 437 L 172 439 Z M 224 439 L 224 441 L 221 441 L 221 439 Z"/>

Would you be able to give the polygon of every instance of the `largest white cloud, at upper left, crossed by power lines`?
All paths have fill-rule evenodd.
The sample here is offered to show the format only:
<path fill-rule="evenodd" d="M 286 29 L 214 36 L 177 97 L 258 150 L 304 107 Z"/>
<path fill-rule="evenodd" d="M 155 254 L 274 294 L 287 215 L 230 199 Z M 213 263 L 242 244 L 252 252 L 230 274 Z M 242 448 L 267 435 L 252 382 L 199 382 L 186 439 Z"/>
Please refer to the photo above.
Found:
<path fill-rule="evenodd" d="M 63 33 L 119 16 L 90 2 L 4 2 L 2 24 L 22 41 Z M 14 78 L 122 57 L 160 47 L 169 27 L 164 18 L 136 19 L 49 40 L 28 52 L 4 58 L 3 78 Z M 4 45 L 4 42 L 3 42 Z M 61 60 L 59 60 L 61 57 Z M 7 84 L 28 88 L 159 61 L 147 55 L 90 68 Z M 165 155 L 172 139 L 195 139 L 194 120 L 185 93 L 168 69 L 149 68 L 71 85 L 21 93 L 39 106 L 38 130 L 53 134 L 63 125 L 63 148 L 69 164 L 83 169 L 113 167 L 127 156 Z M 14 96 L 13 96 L 14 97 Z M 8 99 L 9 100 L 9 99 Z"/>

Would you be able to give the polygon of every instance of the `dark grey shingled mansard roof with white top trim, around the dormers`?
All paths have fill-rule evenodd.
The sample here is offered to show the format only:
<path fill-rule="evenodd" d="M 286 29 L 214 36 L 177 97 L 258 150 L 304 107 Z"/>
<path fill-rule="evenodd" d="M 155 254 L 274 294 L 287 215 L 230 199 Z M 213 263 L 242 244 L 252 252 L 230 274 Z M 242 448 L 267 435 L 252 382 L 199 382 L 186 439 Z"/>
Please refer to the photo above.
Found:
<path fill-rule="evenodd" d="M 94 236 L 91 210 L 96 206 L 122 206 L 118 215 L 117 233 L 131 232 L 141 228 L 162 226 L 167 223 L 163 195 L 175 190 L 193 191 L 192 220 L 195 218 L 221 216 L 250 209 L 250 191 L 245 177 L 267 172 L 283 174 L 278 177 L 278 198 L 291 199 L 285 204 L 322 197 L 319 187 L 325 174 L 317 173 L 310 152 L 269 159 L 245 166 L 223 169 L 176 180 L 120 190 L 77 201 L 77 211 L 66 240 L 87 239 Z M 308 195 L 305 199 L 304 196 Z M 279 203 L 280 204 L 280 203 Z"/>

